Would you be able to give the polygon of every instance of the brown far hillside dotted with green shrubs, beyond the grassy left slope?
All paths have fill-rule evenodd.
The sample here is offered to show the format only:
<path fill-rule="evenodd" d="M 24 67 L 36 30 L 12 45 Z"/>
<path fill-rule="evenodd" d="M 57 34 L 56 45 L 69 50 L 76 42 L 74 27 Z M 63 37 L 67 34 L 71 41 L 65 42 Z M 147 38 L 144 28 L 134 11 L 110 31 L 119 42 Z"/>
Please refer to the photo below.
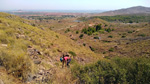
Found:
<path fill-rule="evenodd" d="M 100 29 L 98 30 L 99 26 Z M 87 20 L 84 24 L 79 24 L 75 28 L 58 32 L 68 36 L 80 45 L 92 48 L 95 53 L 101 53 L 104 57 L 140 57 L 145 55 L 142 55 L 143 50 L 149 52 L 148 49 L 150 49 L 147 43 L 150 39 L 149 29 L 147 22 L 133 24 L 108 23 L 94 18 Z M 139 45 L 140 43 L 141 45 Z M 131 45 L 134 46 L 131 47 Z"/>

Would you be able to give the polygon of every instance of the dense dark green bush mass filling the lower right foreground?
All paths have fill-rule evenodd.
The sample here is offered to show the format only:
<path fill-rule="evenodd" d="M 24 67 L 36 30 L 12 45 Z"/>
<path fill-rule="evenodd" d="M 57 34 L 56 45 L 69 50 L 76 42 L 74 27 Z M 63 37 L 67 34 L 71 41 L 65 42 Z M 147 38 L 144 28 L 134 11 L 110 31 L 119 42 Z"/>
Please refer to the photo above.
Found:
<path fill-rule="evenodd" d="M 72 69 L 80 84 L 149 84 L 150 59 L 112 58 Z"/>

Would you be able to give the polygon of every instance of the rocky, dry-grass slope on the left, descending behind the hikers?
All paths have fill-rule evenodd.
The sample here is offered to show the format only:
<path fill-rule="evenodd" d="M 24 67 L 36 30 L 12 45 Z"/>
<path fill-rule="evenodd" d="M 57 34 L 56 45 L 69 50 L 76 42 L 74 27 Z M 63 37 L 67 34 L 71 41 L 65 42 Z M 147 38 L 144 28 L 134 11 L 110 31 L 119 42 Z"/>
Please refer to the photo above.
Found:
<path fill-rule="evenodd" d="M 28 20 L 0 13 L 0 80 L 5 84 L 73 83 L 70 69 L 61 68 L 59 57 L 63 53 L 75 53 L 70 54 L 72 66 L 101 58 L 66 36 L 32 25 Z"/>

